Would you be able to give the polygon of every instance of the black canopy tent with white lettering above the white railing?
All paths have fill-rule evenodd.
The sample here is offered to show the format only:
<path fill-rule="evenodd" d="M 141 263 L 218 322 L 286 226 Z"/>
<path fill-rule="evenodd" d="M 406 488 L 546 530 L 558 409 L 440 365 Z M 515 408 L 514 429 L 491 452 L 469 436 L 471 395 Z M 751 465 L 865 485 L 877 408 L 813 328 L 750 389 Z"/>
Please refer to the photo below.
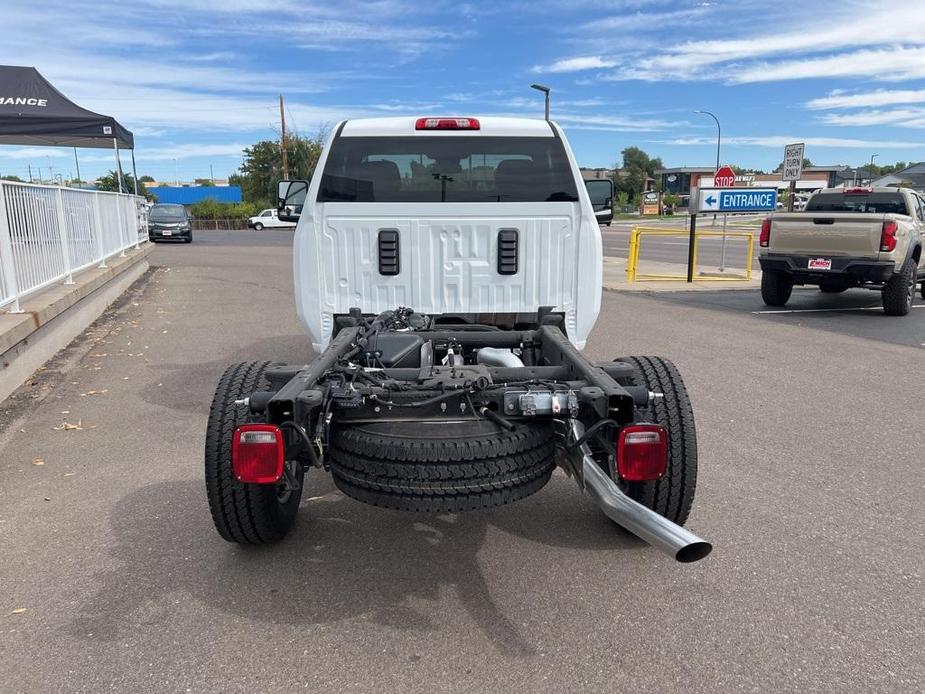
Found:
<path fill-rule="evenodd" d="M 0 65 L 0 144 L 74 147 L 112 147 L 116 155 L 119 189 L 122 163 L 119 147 L 132 151 L 135 192 L 135 138 L 112 116 L 81 108 L 55 89 L 34 67 Z"/>

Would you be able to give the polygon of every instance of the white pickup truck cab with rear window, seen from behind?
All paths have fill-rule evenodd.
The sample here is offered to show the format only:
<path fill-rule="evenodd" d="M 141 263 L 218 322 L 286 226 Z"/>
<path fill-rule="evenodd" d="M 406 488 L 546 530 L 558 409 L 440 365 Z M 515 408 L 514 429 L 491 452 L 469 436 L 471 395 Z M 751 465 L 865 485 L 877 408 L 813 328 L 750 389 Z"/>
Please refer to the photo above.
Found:
<path fill-rule="evenodd" d="M 601 233 L 559 126 L 518 118 L 374 118 L 334 128 L 303 205 L 295 298 L 315 349 L 335 316 L 565 316 L 582 349 L 601 301 Z M 303 199 L 304 198 L 304 199 Z"/>

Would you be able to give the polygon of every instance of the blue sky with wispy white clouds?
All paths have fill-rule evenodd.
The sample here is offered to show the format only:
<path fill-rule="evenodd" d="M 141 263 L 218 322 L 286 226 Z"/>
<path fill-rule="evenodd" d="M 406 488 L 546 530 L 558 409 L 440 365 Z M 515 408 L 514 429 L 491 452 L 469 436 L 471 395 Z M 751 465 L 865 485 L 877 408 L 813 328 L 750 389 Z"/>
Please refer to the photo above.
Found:
<path fill-rule="evenodd" d="M 5 5 L 0 63 L 35 66 L 136 136 L 139 174 L 233 172 L 241 149 L 344 117 L 542 115 L 583 166 L 636 145 L 669 166 L 925 160 L 925 2 L 37 0 Z M 128 166 L 128 158 L 124 160 Z M 0 173 L 73 172 L 0 146 Z M 86 178 L 112 168 L 82 150 Z"/>

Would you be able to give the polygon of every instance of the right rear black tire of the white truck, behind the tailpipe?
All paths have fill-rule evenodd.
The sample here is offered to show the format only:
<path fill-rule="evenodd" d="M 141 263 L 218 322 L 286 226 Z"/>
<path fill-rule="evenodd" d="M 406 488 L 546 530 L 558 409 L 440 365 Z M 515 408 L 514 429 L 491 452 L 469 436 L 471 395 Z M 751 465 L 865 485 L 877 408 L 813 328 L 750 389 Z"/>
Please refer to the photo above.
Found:
<path fill-rule="evenodd" d="M 638 408 L 636 420 L 654 422 L 668 430 L 668 469 L 654 482 L 623 482 L 611 476 L 631 498 L 678 525 L 684 525 L 697 488 L 697 430 L 694 412 L 675 365 L 661 357 L 624 357 L 617 361 L 636 367 L 629 385 L 645 386 L 663 393 L 646 408 Z"/>

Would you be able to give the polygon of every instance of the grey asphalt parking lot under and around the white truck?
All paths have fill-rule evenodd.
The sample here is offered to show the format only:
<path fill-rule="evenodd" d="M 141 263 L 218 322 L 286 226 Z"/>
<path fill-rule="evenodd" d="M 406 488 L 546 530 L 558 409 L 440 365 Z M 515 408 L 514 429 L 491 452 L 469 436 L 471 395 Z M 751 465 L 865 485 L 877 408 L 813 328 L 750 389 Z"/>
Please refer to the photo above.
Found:
<path fill-rule="evenodd" d="M 691 391 L 700 563 L 614 527 L 558 472 L 508 507 L 425 516 L 313 471 L 291 536 L 244 549 L 212 527 L 205 421 L 228 363 L 311 358 L 290 239 L 159 245 L 0 405 L 5 690 L 925 689 L 925 309 L 604 293 L 590 355 L 666 356 Z"/>

